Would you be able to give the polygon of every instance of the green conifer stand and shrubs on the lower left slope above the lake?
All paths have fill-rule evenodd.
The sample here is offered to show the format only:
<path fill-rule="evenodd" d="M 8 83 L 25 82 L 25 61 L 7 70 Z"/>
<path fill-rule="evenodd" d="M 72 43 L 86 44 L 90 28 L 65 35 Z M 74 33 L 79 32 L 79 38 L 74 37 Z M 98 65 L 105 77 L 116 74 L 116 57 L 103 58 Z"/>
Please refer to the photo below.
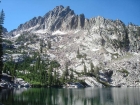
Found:
<path fill-rule="evenodd" d="M 60 64 L 56 60 L 42 60 L 39 53 L 34 53 L 32 57 L 23 54 L 23 57 L 21 62 L 14 62 L 12 57 L 4 62 L 3 72 L 11 75 L 13 80 L 23 78 L 34 86 L 62 86 L 76 81 L 74 71 L 68 69 L 67 63 L 63 74 L 60 74 Z"/>

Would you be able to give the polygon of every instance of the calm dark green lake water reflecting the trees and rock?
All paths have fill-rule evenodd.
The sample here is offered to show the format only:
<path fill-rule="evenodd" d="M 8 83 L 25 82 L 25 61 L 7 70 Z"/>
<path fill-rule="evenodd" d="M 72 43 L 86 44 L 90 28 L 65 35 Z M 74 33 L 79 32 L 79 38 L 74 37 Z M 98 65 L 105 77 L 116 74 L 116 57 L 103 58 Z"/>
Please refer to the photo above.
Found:
<path fill-rule="evenodd" d="M 139 88 L 3 90 L 4 105 L 140 105 Z"/>

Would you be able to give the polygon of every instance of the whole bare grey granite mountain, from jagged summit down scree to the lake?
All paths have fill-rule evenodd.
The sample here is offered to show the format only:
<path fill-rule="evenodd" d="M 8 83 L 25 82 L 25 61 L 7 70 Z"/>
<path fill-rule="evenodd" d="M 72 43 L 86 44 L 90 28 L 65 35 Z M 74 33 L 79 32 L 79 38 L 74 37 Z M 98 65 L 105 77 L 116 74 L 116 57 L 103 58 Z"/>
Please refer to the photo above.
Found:
<path fill-rule="evenodd" d="M 9 35 L 17 38 L 23 32 L 36 34 L 46 44 L 51 41 L 52 49 L 46 51 L 44 47 L 43 53 L 59 61 L 61 74 L 65 62 L 77 72 L 83 71 L 84 64 L 90 71 L 92 62 L 101 68 L 100 78 L 105 82 L 113 86 L 139 86 L 140 80 L 135 78 L 140 75 L 140 27 L 137 25 L 126 26 L 121 20 L 101 16 L 87 19 L 84 14 L 76 15 L 69 6 L 57 6 L 43 17 L 19 25 Z M 29 43 L 28 48 L 39 50 L 39 42 Z M 93 78 L 85 78 L 90 79 L 95 82 Z"/>

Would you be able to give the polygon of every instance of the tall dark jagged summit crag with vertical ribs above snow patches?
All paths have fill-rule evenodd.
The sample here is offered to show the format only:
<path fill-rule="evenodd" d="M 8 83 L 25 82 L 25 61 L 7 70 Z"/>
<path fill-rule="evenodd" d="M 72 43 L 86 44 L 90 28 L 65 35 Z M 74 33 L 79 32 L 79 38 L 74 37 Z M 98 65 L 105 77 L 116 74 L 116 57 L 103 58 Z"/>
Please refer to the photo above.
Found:
<path fill-rule="evenodd" d="M 46 13 L 43 17 L 34 17 L 30 21 L 19 25 L 14 34 L 21 33 L 25 30 L 72 30 L 81 29 L 84 27 L 84 15 L 77 16 L 70 7 L 64 8 L 63 6 L 57 6 L 52 11 Z"/>

